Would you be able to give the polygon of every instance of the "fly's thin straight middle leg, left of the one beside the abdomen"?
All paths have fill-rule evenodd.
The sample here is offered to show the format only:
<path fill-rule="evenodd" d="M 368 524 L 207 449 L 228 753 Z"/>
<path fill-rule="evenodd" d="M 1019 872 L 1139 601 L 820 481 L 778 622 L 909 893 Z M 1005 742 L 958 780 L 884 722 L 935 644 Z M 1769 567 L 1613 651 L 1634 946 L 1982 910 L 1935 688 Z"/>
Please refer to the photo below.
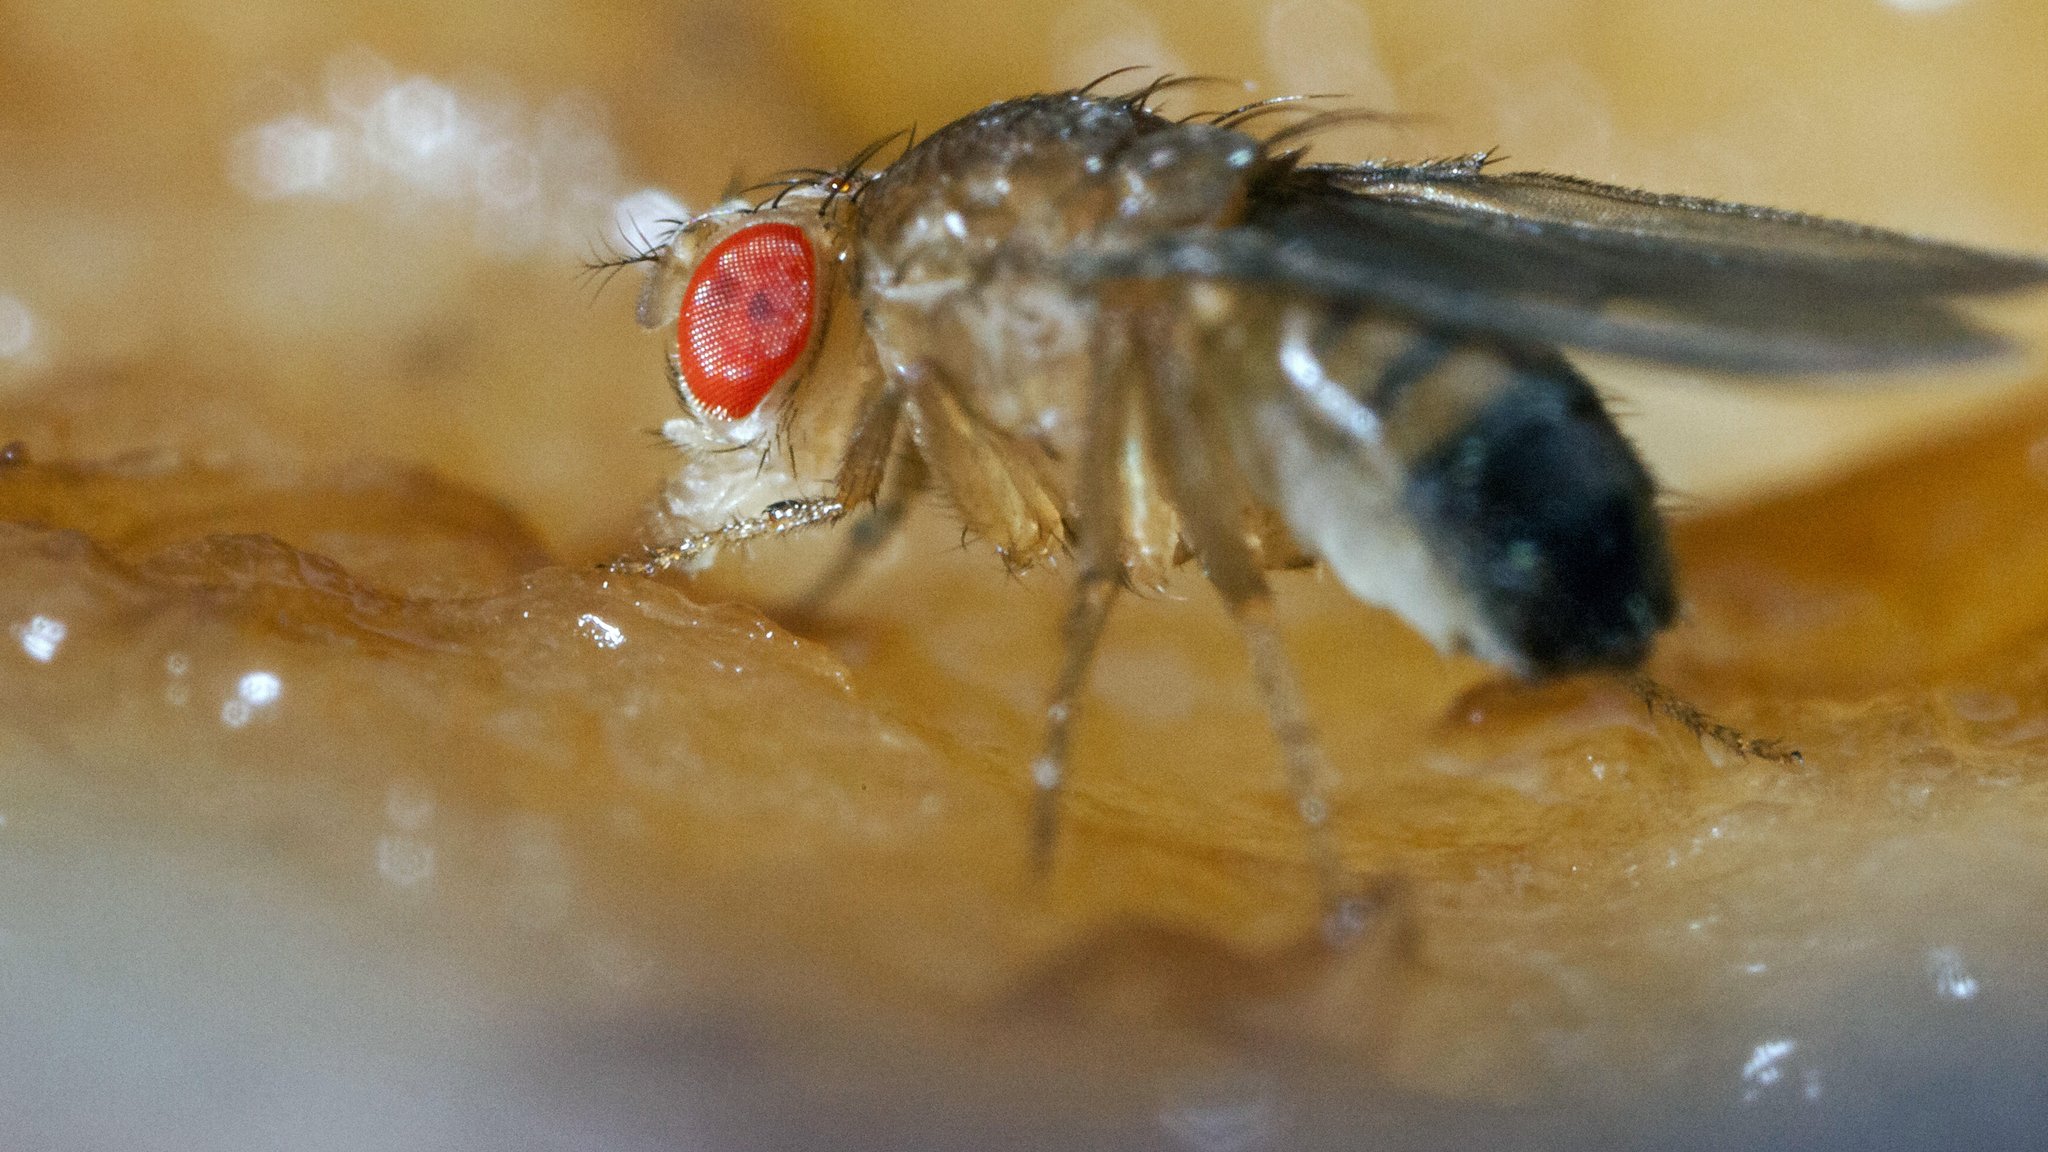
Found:
<path fill-rule="evenodd" d="M 1122 582 L 1124 525 L 1118 500 L 1116 457 L 1126 433 L 1124 404 L 1128 387 L 1120 375 L 1120 357 L 1104 353 L 1096 363 L 1090 389 L 1085 441 L 1075 474 L 1075 553 L 1079 574 L 1073 601 L 1067 607 L 1065 656 L 1053 699 L 1044 705 L 1044 746 L 1032 760 L 1030 855 L 1032 869 L 1042 877 L 1053 869 L 1053 847 L 1059 840 L 1061 789 L 1067 783 L 1067 754 L 1073 746 L 1073 719 L 1087 687 L 1087 670 L 1096 662 L 1102 627 Z"/>

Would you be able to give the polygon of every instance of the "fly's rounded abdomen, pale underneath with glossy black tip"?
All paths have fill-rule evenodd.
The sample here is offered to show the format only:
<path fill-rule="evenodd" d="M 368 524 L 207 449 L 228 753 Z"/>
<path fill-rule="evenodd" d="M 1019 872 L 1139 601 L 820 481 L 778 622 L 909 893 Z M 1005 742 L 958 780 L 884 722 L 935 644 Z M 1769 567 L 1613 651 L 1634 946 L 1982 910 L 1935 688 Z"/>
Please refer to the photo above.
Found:
<path fill-rule="evenodd" d="M 1642 660 L 1675 609 L 1655 488 L 1563 357 L 1307 299 L 1274 330 L 1235 451 L 1352 594 L 1524 676 Z"/>

